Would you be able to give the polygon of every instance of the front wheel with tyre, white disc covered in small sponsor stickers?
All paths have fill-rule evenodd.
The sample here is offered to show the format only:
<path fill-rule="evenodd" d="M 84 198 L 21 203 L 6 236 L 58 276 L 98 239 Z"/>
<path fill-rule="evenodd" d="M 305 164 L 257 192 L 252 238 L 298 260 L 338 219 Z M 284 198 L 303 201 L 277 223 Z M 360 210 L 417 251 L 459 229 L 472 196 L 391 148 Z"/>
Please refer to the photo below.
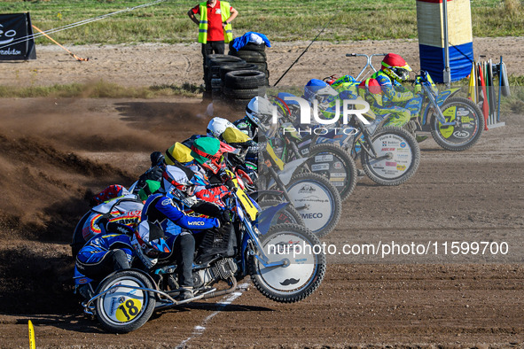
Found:
<path fill-rule="evenodd" d="M 411 134 L 403 128 L 380 128 L 371 143 L 377 153 L 372 158 L 361 152 L 365 174 L 380 185 L 399 185 L 417 172 L 420 164 L 420 148 Z"/>

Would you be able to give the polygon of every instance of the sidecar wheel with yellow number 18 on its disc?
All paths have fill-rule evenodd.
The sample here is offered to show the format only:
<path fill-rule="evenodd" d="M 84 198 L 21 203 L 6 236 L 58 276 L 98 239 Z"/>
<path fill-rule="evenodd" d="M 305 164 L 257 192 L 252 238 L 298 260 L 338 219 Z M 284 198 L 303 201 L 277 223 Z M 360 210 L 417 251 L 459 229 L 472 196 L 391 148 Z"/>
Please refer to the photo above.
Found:
<path fill-rule="evenodd" d="M 139 289 L 152 288 L 149 279 L 134 270 L 106 277 L 97 291 L 97 294 L 107 291 L 96 301 L 98 321 L 114 333 L 137 330 L 149 320 L 155 305 L 153 292 Z"/>

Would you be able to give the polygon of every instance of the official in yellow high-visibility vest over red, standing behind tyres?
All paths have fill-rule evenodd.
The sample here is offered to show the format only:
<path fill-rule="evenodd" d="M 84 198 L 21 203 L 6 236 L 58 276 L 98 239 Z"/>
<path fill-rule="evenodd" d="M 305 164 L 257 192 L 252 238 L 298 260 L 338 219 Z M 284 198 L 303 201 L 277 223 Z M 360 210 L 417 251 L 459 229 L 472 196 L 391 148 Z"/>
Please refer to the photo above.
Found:
<path fill-rule="evenodd" d="M 199 19 L 195 17 L 196 14 L 199 14 Z M 199 25 L 199 43 L 202 44 L 206 82 L 204 99 L 207 99 L 211 97 L 211 77 L 207 68 L 207 56 L 212 53 L 223 54 L 224 43 L 233 40 L 231 21 L 239 15 L 239 12 L 228 2 L 207 0 L 193 7 L 187 15 Z"/>

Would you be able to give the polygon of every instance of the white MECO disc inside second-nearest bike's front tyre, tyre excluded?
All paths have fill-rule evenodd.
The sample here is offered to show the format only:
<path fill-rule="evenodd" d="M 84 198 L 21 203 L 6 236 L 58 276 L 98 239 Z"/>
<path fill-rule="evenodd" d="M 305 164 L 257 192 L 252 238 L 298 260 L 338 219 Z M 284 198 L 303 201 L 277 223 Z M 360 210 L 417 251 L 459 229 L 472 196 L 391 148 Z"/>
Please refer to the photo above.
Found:
<path fill-rule="evenodd" d="M 324 229 L 332 220 L 332 193 L 318 182 L 303 180 L 287 188 L 291 203 L 301 213 L 306 227 L 313 232 Z"/>

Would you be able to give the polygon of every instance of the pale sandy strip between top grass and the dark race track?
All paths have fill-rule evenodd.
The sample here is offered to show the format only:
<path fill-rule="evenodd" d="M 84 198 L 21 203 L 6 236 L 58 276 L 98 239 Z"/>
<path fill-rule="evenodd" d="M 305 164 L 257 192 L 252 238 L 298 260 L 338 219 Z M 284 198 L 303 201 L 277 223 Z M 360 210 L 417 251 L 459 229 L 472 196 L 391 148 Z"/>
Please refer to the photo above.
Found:
<path fill-rule="evenodd" d="M 267 50 L 270 85 L 308 47 L 303 43 L 274 43 Z M 475 38 L 475 58 L 485 55 L 498 62 L 500 56 L 508 74 L 520 75 L 524 58 L 524 37 Z M 144 44 L 136 46 L 73 46 L 68 47 L 87 62 L 77 61 L 59 46 L 37 46 L 37 59 L 27 62 L 2 62 L 0 85 L 40 86 L 53 83 L 91 82 L 103 79 L 124 86 L 182 85 L 202 83 L 202 56 L 199 43 Z M 313 43 L 297 64 L 285 74 L 278 86 L 303 86 L 308 79 L 322 79 L 332 74 L 356 76 L 365 65 L 365 58 L 347 58 L 347 53 L 387 53 L 403 56 L 414 70 L 419 69 L 418 41 Z M 227 53 L 227 50 L 226 50 Z M 380 58 L 373 60 L 379 66 Z"/>

